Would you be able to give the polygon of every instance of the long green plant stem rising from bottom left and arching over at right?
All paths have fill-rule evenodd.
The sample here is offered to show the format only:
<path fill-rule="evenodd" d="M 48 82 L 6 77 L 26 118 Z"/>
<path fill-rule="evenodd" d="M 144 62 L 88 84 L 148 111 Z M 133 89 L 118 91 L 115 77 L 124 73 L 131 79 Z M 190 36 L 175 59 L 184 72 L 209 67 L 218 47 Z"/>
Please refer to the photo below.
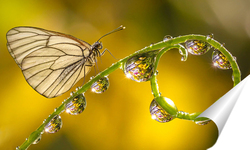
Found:
<path fill-rule="evenodd" d="M 180 49 L 183 52 L 183 56 L 186 60 L 187 58 L 187 52 L 185 50 L 185 48 L 183 48 L 183 46 L 179 45 L 180 43 L 184 43 L 187 40 L 202 40 L 202 41 L 206 41 L 207 43 L 209 43 L 210 45 L 212 45 L 214 48 L 218 49 L 219 51 L 221 51 L 226 58 L 229 60 L 231 66 L 232 66 L 232 70 L 233 70 L 233 76 L 234 76 L 234 85 L 238 84 L 240 82 L 240 70 L 239 67 L 235 61 L 235 59 L 233 58 L 233 56 L 231 55 L 230 52 L 228 52 L 224 46 L 222 46 L 222 44 L 220 44 L 219 42 L 215 41 L 212 38 L 207 38 L 206 36 L 203 35 L 185 35 L 185 36 L 179 36 L 173 39 L 170 39 L 168 41 L 161 41 L 159 43 L 156 43 L 154 45 L 145 47 L 135 53 L 133 53 L 132 55 L 129 55 L 121 60 L 119 60 L 118 62 L 114 63 L 113 65 L 111 65 L 109 68 L 107 68 L 106 70 L 100 72 L 98 75 L 96 75 L 94 78 L 92 78 L 91 80 L 89 80 L 85 85 L 83 85 L 78 91 L 76 91 L 75 93 L 72 93 L 72 95 L 67 98 L 65 101 L 62 102 L 62 104 L 56 108 L 54 110 L 54 112 L 49 115 L 49 117 L 40 125 L 40 127 L 37 128 L 36 131 L 32 132 L 30 134 L 30 136 L 24 141 L 24 143 L 18 148 L 20 150 L 25 150 L 27 149 L 37 138 L 39 138 L 39 136 L 44 132 L 44 127 L 46 126 L 46 124 L 48 124 L 51 119 L 53 119 L 53 117 L 55 117 L 56 115 L 59 115 L 60 113 L 62 113 L 65 110 L 65 106 L 66 104 L 68 104 L 73 97 L 85 93 L 90 87 L 91 85 L 98 81 L 101 77 L 104 76 L 108 76 L 110 73 L 112 73 L 113 71 L 121 68 L 124 70 L 124 63 L 127 61 L 128 58 L 135 56 L 137 54 L 141 54 L 141 53 L 145 53 L 145 52 L 149 52 L 149 51 L 153 51 L 153 50 L 160 50 L 159 54 L 157 55 L 156 58 L 156 66 L 155 66 L 155 70 L 157 68 L 158 62 L 160 57 L 168 50 L 173 49 L 173 48 L 177 48 Z M 152 91 L 154 93 L 154 96 L 159 96 L 159 89 L 158 89 L 158 85 L 156 82 L 156 76 L 153 75 L 152 79 L 151 79 L 151 86 Z"/>

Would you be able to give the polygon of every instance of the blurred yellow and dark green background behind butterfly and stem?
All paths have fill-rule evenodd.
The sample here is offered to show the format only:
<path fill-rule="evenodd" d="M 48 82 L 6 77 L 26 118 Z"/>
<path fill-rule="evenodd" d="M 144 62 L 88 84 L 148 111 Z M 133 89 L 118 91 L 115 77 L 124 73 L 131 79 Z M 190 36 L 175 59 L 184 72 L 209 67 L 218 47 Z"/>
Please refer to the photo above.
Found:
<path fill-rule="evenodd" d="M 0 149 L 11 150 L 24 142 L 42 121 L 69 96 L 47 99 L 25 81 L 9 55 L 6 33 L 16 26 L 35 26 L 67 33 L 93 44 L 103 34 L 126 30 L 102 39 L 116 58 L 159 42 L 165 35 L 213 33 L 216 40 L 237 57 L 242 78 L 249 73 L 249 0 L 2 0 L 0 2 Z M 181 62 L 178 51 L 167 52 L 158 71 L 160 92 L 179 110 L 202 112 L 233 86 L 231 70 L 212 66 L 211 53 L 189 56 Z M 116 60 L 108 53 L 99 61 L 102 71 Z M 94 69 L 86 77 L 95 75 Z M 214 123 L 199 126 L 175 119 L 158 123 L 151 119 L 150 84 L 137 83 L 121 70 L 110 74 L 110 88 L 103 94 L 85 93 L 86 110 L 78 116 L 61 114 L 62 129 L 44 133 L 30 150 L 177 149 L 202 150 L 217 139 Z M 80 81 L 77 86 L 80 86 Z M 74 90 L 73 88 L 72 90 Z"/>

